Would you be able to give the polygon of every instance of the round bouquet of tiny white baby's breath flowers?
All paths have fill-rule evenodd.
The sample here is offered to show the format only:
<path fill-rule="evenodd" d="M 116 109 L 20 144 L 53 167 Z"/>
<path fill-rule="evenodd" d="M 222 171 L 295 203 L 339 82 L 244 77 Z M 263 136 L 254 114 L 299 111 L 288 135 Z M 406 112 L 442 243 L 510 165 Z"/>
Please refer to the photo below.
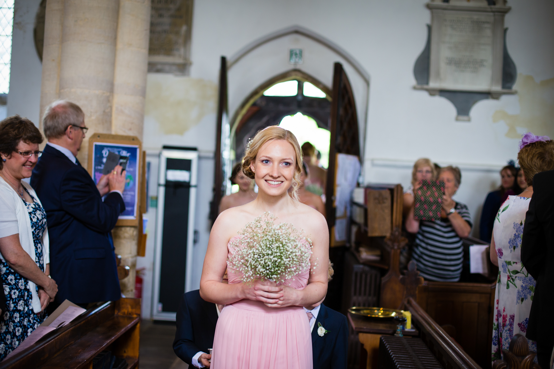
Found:
<path fill-rule="evenodd" d="M 243 282 L 256 279 L 283 284 L 310 269 L 312 242 L 288 223 L 275 224 L 276 216 L 265 212 L 238 232 L 228 259 L 233 268 L 244 274 Z"/>

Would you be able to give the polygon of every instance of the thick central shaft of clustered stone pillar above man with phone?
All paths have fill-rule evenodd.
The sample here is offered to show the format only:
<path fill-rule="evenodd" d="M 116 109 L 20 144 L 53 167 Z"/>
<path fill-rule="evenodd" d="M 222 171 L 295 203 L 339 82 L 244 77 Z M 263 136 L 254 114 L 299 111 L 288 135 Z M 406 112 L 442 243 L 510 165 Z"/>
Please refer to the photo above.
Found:
<path fill-rule="evenodd" d="M 48 13 L 47 13 L 48 15 Z M 59 98 L 83 109 L 88 136 L 111 132 L 119 1 L 65 0 Z M 88 137 L 78 158 L 88 163 Z"/>

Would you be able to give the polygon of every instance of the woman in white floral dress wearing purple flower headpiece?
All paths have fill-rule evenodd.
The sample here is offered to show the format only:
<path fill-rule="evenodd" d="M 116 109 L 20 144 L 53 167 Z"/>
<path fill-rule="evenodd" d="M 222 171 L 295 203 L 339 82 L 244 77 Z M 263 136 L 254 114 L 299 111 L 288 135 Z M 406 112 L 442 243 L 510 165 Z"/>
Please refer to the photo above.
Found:
<path fill-rule="evenodd" d="M 554 141 L 546 136 L 526 133 L 520 144 L 517 160 L 525 171 L 529 185 L 520 195 L 508 196 L 496 214 L 490 259 L 499 267 L 495 292 L 492 360 L 500 359 L 502 349 L 508 349 L 512 337 L 525 335 L 535 279 L 521 263 L 521 236 L 525 214 L 533 195 L 535 174 L 554 169 Z M 529 340 L 529 349 L 537 351 L 535 341 Z"/>

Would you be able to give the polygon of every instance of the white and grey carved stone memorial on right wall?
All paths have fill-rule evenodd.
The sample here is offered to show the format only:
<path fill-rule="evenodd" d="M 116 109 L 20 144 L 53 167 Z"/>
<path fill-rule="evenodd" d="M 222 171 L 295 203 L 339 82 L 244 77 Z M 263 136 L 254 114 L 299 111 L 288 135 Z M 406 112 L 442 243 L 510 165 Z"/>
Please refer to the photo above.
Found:
<path fill-rule="evenodd" d="M 515 65 L 504 45 L 511 9 L 505 0 L 430 0 L 427 7 L 429 40 L 414 66 L 414 88 L 448 98 L 462 121 L 469 121 L 476 101 L 516 92 Z"/>

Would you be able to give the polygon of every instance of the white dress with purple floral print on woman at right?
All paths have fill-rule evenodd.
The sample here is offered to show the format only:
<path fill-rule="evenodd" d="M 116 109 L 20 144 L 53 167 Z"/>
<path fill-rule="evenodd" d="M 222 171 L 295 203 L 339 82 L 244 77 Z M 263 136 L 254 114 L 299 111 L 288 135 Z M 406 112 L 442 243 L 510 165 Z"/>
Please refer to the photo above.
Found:
<path fill-rule="evenodd" d="M 495 292 L 493 361 L 501 358 L 502 349 L 508 349 L 515 334 L 525 336 L 527 331 L 535 279 L 521 264 L 521 236 L 530 200 L 508 196 L 494 220 L 499 271 Z M 537 351 L 535 341 L 529 340 L 529 350 Z"/>

